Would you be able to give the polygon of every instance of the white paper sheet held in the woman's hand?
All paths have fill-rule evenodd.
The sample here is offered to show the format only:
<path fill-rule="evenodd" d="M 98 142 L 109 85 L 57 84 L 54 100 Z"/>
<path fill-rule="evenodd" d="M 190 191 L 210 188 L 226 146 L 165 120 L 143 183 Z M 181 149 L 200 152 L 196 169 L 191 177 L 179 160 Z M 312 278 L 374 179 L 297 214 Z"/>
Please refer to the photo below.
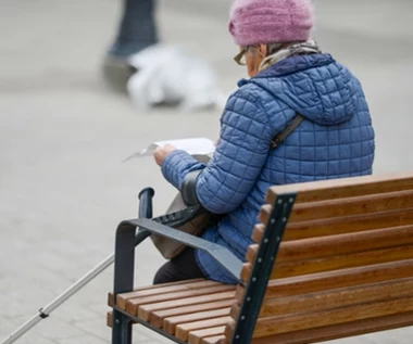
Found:
<path fill-rule="evenodd" d="M 164 146 L 166 144 L 172 144 L 176 149 L 187 152 L 195 158 L 202 163 L 208 163 L 212 154 L 215 151 L 214 142 L 205 138 L 191 138 L 191 139 L 179 139 L 179 140 L 166 140 L 158 141 L 149 144 L 146 149 L 140 150 L 130 156 L 126 157 L 123 162 L 127 162 L 135 157 L 150 156 L 153 154 L 158 146 Z"/>

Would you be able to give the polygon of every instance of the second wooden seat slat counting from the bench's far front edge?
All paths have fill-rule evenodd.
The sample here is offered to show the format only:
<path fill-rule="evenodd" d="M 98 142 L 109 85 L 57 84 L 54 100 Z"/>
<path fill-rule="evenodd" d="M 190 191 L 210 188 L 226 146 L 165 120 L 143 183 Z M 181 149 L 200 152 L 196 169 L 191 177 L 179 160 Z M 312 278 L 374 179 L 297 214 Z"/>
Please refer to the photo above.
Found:
<path fill-rule="evenodd" d="M 187 297 L 214 294 L 214 293 L 226 292 L 226 291 L 231 291 L 231 290 L 234 290 L 233 285 L 225 285 L 225 284 L 215 282 L 213 286 L 209 286 L 209 288 L 186 290 L 186 291 L 180 291 L 180 292 L 175 292 L 175 293 L 157 294 L 153 296 L 129 298 L 126 302 L 126 310 L 127 313 L 132 315 L 137 315 L 138 308 L 141 305 L 148 305 L 148 304 L 161 303 L 161 302 L 167 302 L 167 301 L 177 301 L 177 300 L 183 300 Z"/>

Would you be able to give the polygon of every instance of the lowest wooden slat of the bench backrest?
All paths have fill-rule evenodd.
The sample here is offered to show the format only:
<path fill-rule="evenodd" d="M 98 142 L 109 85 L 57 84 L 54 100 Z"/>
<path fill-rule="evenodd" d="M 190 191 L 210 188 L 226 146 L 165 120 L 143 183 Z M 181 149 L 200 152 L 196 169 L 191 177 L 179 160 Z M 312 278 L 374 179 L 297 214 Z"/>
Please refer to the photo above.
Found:
<path fill-rule="evenodd" d="M 353 322 L 340 323 L 336 326 L 313 328 L 303 331 L 295 331 L 271 335 L 266 337 L 253 339 L 251 344 L 310 344 L 343 336 L 360 335 L 376 331 L 397 329 L 413 323 L 413 313 L 402 313 L 375 319 L 364 319 Z M 220 343 L 221 344 L 221 343 Z"/>

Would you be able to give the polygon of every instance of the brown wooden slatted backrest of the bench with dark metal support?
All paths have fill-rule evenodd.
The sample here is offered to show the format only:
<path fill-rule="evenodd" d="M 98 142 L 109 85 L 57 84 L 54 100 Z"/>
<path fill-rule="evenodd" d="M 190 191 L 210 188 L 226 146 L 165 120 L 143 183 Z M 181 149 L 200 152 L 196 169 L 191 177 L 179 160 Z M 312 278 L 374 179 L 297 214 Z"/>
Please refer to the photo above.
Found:
<path fill-rule="evenodd" d="M 274 187 L 267 202 L 228 341 L 313 343 L 413 324 L 413 174 Z"/>

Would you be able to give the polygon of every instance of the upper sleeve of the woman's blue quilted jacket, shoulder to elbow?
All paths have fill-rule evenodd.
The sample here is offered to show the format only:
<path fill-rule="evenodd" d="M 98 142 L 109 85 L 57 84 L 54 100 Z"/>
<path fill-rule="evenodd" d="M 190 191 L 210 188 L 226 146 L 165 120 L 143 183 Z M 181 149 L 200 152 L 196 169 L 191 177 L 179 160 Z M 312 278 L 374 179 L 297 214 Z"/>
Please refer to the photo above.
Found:
<path fill-rule="evenodd" d="M 234 93 L 221 119 L 221 135 L 211 163 L 197 180 L 203 207 L 215 214 L 237 208 L 255 184 L 267 160 L 272 128 L 253 93 Z"/>

